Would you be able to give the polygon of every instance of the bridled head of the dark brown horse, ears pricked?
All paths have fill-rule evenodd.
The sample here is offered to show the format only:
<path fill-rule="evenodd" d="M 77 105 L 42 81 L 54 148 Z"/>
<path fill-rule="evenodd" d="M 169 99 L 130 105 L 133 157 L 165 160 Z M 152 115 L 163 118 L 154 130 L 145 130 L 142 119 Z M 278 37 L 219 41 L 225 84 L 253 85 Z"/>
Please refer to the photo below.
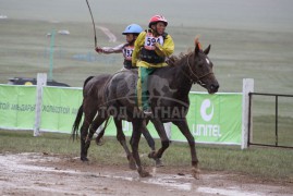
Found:
<path fill-rule="evenodd" d="M 187 57 L 187 65 L 190 68 L 192 79 L 206 88 L 209 94 L 218 91 L 219 83 L 212 72 L 212 62 L 208 58 L 210 45 L 202 50 L 198 39 L 195 40 L 194 52 Z"/>

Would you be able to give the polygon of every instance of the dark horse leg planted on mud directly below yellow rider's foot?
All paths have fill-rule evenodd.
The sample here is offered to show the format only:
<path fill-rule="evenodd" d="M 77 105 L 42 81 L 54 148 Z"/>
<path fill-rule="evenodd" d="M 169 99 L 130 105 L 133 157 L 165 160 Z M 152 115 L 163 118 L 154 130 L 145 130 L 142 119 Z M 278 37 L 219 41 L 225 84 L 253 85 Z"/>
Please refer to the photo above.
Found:
<path fill-rule="evenodd" d="M 143 169 L 139 154 L 138 154 L 138 144 L 142 136 L 142 131 L 141 131 L 142 123 L 143 121 L 141 120 L 134 120 L 132 123 L 133 132 L 132 132 L 132 138 L 131 138 L 131 146 L 132 146 L 132 155 L 133 155 L 133 158 L 135 159 L 139 176 L 146 177 L 146 176 L 150 176 L 150 174 Z"/>

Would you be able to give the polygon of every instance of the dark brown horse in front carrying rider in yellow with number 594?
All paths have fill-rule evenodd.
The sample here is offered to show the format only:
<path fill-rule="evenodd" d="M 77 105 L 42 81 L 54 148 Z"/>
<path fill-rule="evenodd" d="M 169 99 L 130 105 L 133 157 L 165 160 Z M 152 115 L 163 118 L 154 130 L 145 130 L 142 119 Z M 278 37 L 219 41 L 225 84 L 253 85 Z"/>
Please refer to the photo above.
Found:
<path fill-rule="evenodd" d="M 160 138 L 161 148 L 154 152 L 152 157 L 161 158 L 163 151 L 169 147 L 169 139 L 164 132 L 162 123 L 172 122 L 186 137 L 192 156 L 192 174 L 198 177 L 198 159 L 196 156 L 195 140 L 190 132 L 186 113 L 190 107 L 188 93 L 194 83 L 199 84 L 208 90 L 209 94 L 218 91 L 219 84 L 212 72 L 212 62 L 207 57 L 210 46 L 203 51 L 199 44 L 193 52 L 180 57 L 173 66 L 157 69 L 151 78 L 148 79 L 149 102 L 152 115 L 149 120 L 154 123 Z M 136 105 L 135 87 L 137 74 L 133 72 L 121 72 L 111 77 L 105 86 L 102 107 L 98 109 L 95 119 L 99 126 L 105 119 L 112 115 L 119 120 L 125 119 L 133 123 L 133 135 L 131 140 L 133 157 L 135 159 L 137 171 L 141 176 L 148 176 L 149 173 L 142 167 L 138 155 L 138 143 L 144 126 L 145 115 Z M 90 138 L 94 133 L 89 131 Z M 82 156 L 86 157 L 87 140 L 82 137 Z"/>

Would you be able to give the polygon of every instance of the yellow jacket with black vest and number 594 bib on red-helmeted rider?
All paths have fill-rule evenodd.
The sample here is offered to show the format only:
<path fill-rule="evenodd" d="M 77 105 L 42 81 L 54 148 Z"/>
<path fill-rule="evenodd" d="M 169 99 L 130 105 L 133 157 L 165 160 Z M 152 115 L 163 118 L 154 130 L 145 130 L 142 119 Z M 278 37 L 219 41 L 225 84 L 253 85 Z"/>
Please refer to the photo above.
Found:
<path fill-rule="evenodd" d="M 155 47 L 155 44 L 158 48 Z M 155 37 L 150 29 L 142 32 L 134 44 L 132 65 L 144 68 L 166 66 L 164 58 L 174 52 L 174 42 L 169 34 Z"/>

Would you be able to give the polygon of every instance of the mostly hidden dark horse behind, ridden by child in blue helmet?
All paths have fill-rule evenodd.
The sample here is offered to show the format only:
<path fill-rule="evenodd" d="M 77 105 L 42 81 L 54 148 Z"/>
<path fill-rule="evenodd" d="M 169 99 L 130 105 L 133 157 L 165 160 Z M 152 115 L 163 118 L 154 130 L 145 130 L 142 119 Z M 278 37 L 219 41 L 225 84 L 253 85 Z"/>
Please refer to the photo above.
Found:
<path fill-rule="evenodd" d="M 73 138 L 76 137 L 77 135 L 77 131 L 80 127 L 80 123 L 82 121 L 82 117 L 84 114 L 84 121 L 83 121 L 83 125 L 81 127 L 81 135 L 82 137 L 86 137 L 88 134 L 88 128 L 90 128 L 91 133 L 95 132 L 98 126 L 96 125 L 96 122 L 94 121 L 95 115 L 97 114 L 97 111 L 99 109 L 99 103 L 102 102 L 102 97 L 103 97 L 103 87 L 107 84 L 107 82 L 109 82 L 109 79 L 111 78 L 111 74 L 102 74 L 102 75 L 98 75 L 98 76 L 89 76 L 88 78 L 86 78 L 86 81 L 84 82 L 84 87 L 83 87 L 83 103 L 78 109 L 76 119 L 74 121 L 73 124 Z M 96 143 L 99 143 L 99 139 L 102 137 L 105 130 L 107 127 L 107 123 L 108 123 L 108 119 L 105 119 L 106 121 L 106 126 L 101 130 L 101 132 L 98 134 L 97 138 L 96 138 Z M 120 142 L 120 144 L 122 145 L 123 149 L 126 152 L 126 157 L 129 159 L 129 163 L 130 163 L 130 168 L 131 169 L 136 169 L 136 164 L 134 161 L 134 158 L 131 154 L 131 151 L 129 150 L 129 147 L 126 145 L 126 140 L 125 140 L 125 135 L 122 131 L 122 121 L 118 120 L 117 118 L 114 118 L 114 123 L 117 126 L 117 139 Z M 149 147 L 151 148 L 152 151 L 155 151 L 155 142 L 152 139 L 152 137 L 150 136 L 148 130 L 144 126 L 142 130 L 142 133 L 144 134 Z M 90 140 L 87 143 L 88 147 L 90 145 Z M 81 156 L 81 159 L 83 161 L 87 161 L 87 157 L 83 157 Z M 156 160 L 156 166 L 160 167 L 162 166 L 161 160 L 158 158 L 154 158 Z"/>

